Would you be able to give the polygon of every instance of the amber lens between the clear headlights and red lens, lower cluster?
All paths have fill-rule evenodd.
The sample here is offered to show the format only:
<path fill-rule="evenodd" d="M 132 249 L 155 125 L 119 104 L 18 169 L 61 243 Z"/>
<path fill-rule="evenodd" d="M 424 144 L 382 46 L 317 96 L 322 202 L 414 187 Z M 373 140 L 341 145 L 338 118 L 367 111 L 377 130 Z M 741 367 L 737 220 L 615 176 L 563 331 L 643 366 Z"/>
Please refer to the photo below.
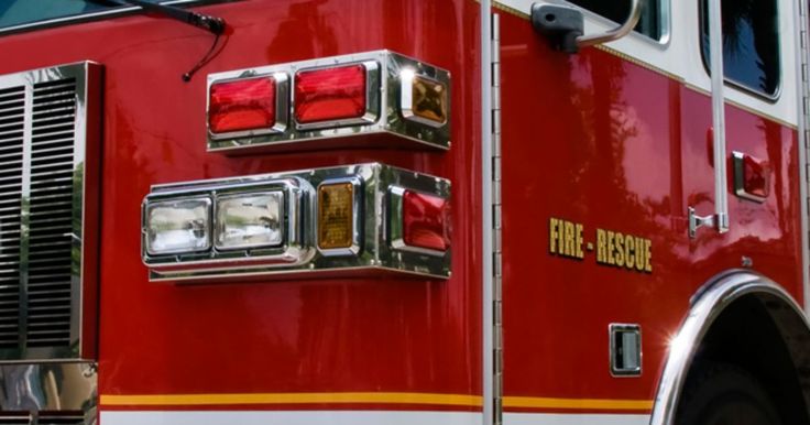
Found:
<path fill-rule="evenodd" d="M 351 248 L 354 244 L 354 185 L 337 183 L 318 188 L 318 247 Z"/>

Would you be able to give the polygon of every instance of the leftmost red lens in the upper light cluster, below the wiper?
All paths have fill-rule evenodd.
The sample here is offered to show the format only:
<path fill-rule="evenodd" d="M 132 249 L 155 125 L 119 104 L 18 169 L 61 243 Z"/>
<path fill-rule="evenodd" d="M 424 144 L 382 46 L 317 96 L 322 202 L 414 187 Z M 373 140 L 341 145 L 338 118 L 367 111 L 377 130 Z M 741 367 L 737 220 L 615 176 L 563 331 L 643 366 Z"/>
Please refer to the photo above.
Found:
<path fill-rule="evenodd" d="M 275 80 L 251 78 L 211 85 L 208 128 L 212 133 L 270 129 L 275 124 Z"/>

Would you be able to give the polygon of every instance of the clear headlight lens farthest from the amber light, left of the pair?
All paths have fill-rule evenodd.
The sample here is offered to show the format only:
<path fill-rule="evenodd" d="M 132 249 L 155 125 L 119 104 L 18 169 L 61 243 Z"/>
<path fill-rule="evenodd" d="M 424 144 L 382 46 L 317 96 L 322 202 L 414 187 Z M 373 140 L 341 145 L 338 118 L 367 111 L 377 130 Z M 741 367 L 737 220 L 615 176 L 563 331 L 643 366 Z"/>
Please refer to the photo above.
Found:
<path fill-rule="evenodd" d="M 205 251 L 211 247 L 209 198 L 146 205 L 146 252 L 152 255 Z"/>

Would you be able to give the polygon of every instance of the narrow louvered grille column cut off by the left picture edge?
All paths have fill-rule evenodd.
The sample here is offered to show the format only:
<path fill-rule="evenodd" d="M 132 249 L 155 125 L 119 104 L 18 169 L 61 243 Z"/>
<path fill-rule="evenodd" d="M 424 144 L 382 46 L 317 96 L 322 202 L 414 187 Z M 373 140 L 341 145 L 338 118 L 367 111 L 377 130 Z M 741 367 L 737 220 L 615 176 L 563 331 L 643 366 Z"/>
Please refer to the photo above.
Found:
<path fill-rule="evenodd" d="M 20 344 L 20 196 L 25 87 L 0 90 L 0 348 Z"/>

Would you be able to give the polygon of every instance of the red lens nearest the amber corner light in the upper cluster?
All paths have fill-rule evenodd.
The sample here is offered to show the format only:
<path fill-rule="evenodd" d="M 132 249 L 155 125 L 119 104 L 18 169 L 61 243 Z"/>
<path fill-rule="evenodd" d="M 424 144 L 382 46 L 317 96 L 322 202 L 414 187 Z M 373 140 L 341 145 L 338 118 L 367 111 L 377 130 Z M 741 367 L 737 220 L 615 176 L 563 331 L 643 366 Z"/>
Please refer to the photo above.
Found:
<path fill-rule="evenodd" d="M 303 70 L 295 76 L 295 120 L 299 123 L 365 115 L 365 66 Z"/>

